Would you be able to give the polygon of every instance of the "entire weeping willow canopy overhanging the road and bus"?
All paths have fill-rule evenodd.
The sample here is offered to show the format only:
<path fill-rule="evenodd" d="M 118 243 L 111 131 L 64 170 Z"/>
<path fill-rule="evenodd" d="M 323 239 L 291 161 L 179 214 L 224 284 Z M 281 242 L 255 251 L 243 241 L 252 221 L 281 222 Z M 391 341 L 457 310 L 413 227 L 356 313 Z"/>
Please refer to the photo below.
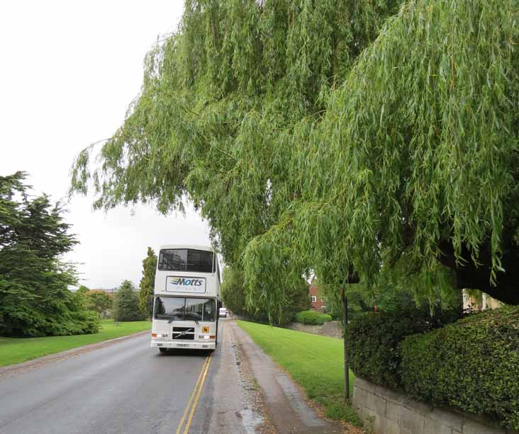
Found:
<path fill-rule="evenodd" d="M 396 264 L 425 295 L 447 267 L 519 304 L 517 19 L 513 0 L 186 1 L 72 191 L 189 198 L 273 316 L 280 281 Z"/>

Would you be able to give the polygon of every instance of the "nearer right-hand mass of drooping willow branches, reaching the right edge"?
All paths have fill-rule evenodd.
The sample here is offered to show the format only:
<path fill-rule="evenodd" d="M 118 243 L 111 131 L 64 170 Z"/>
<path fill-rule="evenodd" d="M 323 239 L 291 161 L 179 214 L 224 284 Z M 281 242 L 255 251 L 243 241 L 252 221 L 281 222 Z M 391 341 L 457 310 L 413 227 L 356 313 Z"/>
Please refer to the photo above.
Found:
<path fill-rule="evenodd" d="M 433 296 L 447 267 L 518 304 L 517 18 L 515 1 L 484 0 L 389 18 L 310 127 L 303 193 L 248 244 L 250 278 L 269 250 L 309 251 L 335 286 L 398 264 Z"/>

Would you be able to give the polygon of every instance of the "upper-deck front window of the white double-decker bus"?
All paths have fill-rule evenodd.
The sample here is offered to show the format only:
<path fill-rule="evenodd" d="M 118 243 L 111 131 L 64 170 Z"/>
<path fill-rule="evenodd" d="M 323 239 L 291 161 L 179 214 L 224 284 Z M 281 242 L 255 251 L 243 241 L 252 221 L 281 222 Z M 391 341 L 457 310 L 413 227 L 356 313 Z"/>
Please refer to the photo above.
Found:
<path fill-rule="evenodd" d="M 194 249 L 163 249 L 160 251 L 158 269 L 213 273 L 213 252 Z"/>

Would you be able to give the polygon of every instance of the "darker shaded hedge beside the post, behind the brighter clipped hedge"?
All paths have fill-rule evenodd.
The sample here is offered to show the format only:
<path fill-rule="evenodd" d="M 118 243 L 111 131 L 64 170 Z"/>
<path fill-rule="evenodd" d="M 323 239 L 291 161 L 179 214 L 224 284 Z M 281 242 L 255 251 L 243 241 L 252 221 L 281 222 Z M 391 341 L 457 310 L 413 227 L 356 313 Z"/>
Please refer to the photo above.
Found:
<path fill-rule="evenodd" d="M 367 313 L 352 319 L 346 329 L 347 355 L 355 375 L 391 389 L 402 386 L 398 344 L 413 333 L 437 329 L 459 318 L 456 311 L 408 309 Z"/>

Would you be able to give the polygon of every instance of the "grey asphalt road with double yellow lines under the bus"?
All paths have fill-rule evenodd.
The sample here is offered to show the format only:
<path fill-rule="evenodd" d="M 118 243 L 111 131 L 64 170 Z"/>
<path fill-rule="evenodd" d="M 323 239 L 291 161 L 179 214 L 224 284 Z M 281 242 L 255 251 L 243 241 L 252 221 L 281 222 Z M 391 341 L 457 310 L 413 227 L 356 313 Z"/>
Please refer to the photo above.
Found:
<path fill-rule="evenodd" d="M 215 396 L 225 401 L 215 373 L 233 364 L 223 362 L 231 360 L 225 325 L 221 321 L 211 358 L 198 352 L 161 355 L 149 348 L 149 336 L 139 336 L 1 379 L 0 433 L 172 434 L 184 433 L 188 421 L 189 433 L 224 432 L 211 427 L 211 408 Z M 233 378 L 237 372 L 226 375 L 227 382 L 239 381 Z M 233 427 L 234 421 L 223 423 L 230 423 L 225 432 L 248 431 Z"/>

